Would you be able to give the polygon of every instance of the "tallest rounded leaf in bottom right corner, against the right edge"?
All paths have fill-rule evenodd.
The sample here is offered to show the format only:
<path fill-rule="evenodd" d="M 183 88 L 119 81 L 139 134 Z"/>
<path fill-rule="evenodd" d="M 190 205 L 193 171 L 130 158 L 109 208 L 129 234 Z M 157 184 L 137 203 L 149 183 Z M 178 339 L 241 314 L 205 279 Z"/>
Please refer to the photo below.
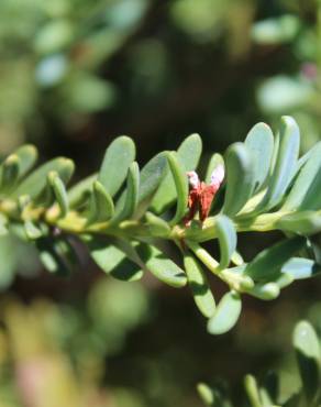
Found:
<path fill-rule="evenodd" d="M 294 332 L 300 376 L 307 405 L 316 400 L 320 388 L 320 344 L 316 331 L 308 321 L 300 321 Z"/>

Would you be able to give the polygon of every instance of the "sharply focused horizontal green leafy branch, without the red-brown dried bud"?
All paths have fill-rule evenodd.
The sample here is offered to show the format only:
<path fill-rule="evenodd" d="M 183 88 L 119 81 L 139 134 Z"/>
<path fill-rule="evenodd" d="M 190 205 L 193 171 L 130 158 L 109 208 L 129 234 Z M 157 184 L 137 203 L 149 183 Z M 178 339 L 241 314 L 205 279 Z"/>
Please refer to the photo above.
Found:
<path fill-rule="evenodd" d="M 25 146 L 1 165 L 1 228 L 19 235 L 22 228 L 52 273 L 68 275 L 73 270 L 75 253 L 68 238 L 75 235 L 115 278 L 135 280 L 151 272 L 176 288 L 188 283 L 198 308 L 209 318 L 209 332 L 223 333 L 236 323 L 244 294 L 274 299 L 296 279 L 319 273 L 312 240 L 321 231 L 320 148 L 317 145 L 299 160 L 299 141 L 292 118 L 281 119 L 279 143 L 267 124 L 256 124 L 244 143 L 228 148 L 224 198 L 215 200 L 208 219 L 201 222 L 196 216 L 190 224 L 185 221 L 186 173 L 200 157 L 196 134 L 178 152 L 162 152 L 141 170 L 134 143 L 120 136 L 107 148 L 98 175 L 71 189 L 67 189 L 74 172 L 70 160 L 54 158 L 27 174 L 36 154 Z M 222 163 L 220 155 L 212 156 L 207 180 Z M 283 231 L 285 239 L 243 262 L 237 234 L 273 230 Z M 202 246 L 215 239 L 218 261 Z M 175 246 L 180 261 L 168 256 Z M 199 261 L 228 286 L 217 308 Z"/>

